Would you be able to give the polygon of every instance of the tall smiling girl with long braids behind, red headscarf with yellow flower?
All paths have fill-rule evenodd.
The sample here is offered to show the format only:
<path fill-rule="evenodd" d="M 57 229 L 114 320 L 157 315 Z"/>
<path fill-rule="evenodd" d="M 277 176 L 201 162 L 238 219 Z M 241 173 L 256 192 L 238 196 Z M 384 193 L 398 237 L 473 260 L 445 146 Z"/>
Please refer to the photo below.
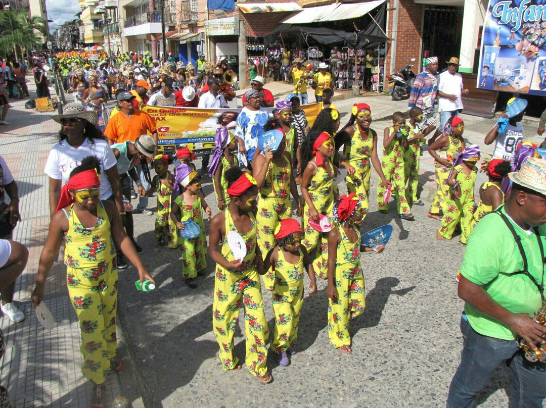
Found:
<path fill-rule="evenodd" d="M 347 169 L 345 182 L 349 193 L 354 193 L 360 200 L 364 217 L 368 212 L 370 195 L 370 161 L 381 183 L 388 187 L 383 174 L 381 161 L 377 157 L 377 133 L 370 128 L 372 113 L 367 104 L 354 104 L 349 122 L 335 135 L 336 152 L 343 147 L 343 155 L 336 154 L 335 163 Z"/>

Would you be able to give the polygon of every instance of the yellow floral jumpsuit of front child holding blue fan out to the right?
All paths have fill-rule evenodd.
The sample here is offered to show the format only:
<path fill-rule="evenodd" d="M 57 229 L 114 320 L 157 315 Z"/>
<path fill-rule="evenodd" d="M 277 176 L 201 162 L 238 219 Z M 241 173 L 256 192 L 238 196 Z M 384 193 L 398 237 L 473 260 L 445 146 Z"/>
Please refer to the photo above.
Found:
<path fill-rule="evenodd" d="M 335 348 L 351 345 L 349 322 L 364 313 L 364 275 L 360 268 L 360 232 L 354 244 L 339 226 L 341 243 L 337 247 L 334 284 L 337 301 L 328 298 L 328 337 Z"/>

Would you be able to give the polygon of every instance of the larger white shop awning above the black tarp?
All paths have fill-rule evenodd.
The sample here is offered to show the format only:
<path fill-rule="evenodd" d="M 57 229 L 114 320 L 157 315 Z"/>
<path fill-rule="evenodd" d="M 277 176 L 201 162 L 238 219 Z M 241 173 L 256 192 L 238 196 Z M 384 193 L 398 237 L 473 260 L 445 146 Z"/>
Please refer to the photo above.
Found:
<path fill-rule="evenodd" d="M 298 14 L 288 17 L 284 24 L 308 24 L 322 21 L 348 20 L 370 13 L 385 0 L 375 0 L 366 3 L 337 3 L 320 5 L 303 9 Z"/>

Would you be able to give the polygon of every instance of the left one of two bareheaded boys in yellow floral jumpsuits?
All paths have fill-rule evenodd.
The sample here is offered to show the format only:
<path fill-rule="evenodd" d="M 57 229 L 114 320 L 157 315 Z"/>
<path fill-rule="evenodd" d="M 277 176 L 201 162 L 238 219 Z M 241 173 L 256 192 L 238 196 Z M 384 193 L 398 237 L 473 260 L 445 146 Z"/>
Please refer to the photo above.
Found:
<path fill-rule="evenodd" d="M 393 125 L 383 131 L 383 157 L 381 167 L 385 178 L 391 183 L 396 199 L 397 211 L 403 220 L 414 221 L 406 200 L 406 168 L 404 154 L 408 148 L 408 134 L 410 128 L 406 126 L 406 118 L 402 112 L 393 113 Z M 387 214 L 389 204 L 385 200 L 385 185 L 377 186 L 377 208 L 379 212 Z"/>

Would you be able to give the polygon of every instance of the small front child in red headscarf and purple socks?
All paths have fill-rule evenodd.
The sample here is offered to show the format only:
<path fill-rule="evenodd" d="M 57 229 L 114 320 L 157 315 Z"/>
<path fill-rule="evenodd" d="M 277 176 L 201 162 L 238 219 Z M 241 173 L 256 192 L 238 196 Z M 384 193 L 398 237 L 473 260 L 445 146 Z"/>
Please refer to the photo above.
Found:
<path fill-rule="evenodd" d="M 305 247 L 300 245 L 300 223 L 293 218 L 281 220 L 275 231 L 277 244 L 265 256 L 264 273 L 271 266 L 275 271 L 273 311 L 275 329 L 271 349 L 277 353 L 278 363 L 290 364 L 288 355 L 294 355 L 298 341 L 298 323 L 304 301 L 304 269 L 311 280 L 310 293 L 317 292 L 313 265 Z"/>

